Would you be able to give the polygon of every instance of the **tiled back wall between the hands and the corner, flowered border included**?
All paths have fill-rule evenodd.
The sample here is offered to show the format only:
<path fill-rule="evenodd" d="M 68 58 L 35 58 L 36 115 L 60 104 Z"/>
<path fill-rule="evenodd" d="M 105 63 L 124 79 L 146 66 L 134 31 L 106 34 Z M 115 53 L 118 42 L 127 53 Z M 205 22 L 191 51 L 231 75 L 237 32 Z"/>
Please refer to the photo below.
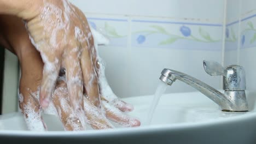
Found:
<path fill-rule="evenodd" d="M 110 86 L 120 97 L 153 94 L 163 68 L 220 88 L 202 61 L 222 62 L 224 1 L 71 1 L 110 39 L 99 48 Z M 209 6 L 211 5 L 211 7 Z M 176 82 L 167 92 L 195 91 Z"/>

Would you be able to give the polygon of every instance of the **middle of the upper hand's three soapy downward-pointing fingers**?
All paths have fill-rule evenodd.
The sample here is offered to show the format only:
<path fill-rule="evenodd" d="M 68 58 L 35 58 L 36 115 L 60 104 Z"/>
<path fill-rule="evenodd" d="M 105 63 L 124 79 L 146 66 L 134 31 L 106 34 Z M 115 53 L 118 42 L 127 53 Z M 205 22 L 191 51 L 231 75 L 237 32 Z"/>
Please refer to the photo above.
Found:
<path fill-rule="evenodd" d="M 69 101 L 75 111 L 83 109 L 83 77 L 78 51 L 70 51 L 65 58 Z"/>

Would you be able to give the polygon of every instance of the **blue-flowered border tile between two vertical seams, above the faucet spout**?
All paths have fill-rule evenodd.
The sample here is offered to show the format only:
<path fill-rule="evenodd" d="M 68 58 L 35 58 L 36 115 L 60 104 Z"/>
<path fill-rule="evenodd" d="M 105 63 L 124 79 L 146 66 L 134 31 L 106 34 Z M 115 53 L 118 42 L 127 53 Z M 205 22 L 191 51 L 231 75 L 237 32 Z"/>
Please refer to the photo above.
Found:
<path fill-rule="evenodd" d="M 135 47 L 220 50 L 222 25 L 164 20 L 131 20 L 131 44 Z"/>

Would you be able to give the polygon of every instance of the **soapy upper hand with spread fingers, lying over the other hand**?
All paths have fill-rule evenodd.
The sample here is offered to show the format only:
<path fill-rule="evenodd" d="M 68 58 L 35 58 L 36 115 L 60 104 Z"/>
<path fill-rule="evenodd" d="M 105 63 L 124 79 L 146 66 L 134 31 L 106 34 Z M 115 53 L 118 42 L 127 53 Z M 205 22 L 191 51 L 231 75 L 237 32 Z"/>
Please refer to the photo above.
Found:
<path fill-rule="evenodd" d="M 86 17 L 67 0 L 36 1 L 30 13 L 21 14 L 30 39 L 44 62 L 39 103 L 48 107 L 61 68 L 75 111 L 83 109 L 83 86 L 90 101 L 100 107 L 93 38 Z M 29 10 L 28 10 L 29 11 Z"/>

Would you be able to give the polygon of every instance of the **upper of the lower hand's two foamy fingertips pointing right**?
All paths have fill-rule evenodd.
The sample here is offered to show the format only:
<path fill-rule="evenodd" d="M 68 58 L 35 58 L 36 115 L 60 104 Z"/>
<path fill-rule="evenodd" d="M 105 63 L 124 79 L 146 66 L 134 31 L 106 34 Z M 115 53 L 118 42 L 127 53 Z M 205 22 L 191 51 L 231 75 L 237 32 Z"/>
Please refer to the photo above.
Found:
<path fill-rule="evenodd" d="M 133 106 L 131 104 L 125 103 L 123 100 L 114 99 L 113 101 L 110 101 L 110 104 L 123 112 L 130 112 L 133 110 Z"/>

